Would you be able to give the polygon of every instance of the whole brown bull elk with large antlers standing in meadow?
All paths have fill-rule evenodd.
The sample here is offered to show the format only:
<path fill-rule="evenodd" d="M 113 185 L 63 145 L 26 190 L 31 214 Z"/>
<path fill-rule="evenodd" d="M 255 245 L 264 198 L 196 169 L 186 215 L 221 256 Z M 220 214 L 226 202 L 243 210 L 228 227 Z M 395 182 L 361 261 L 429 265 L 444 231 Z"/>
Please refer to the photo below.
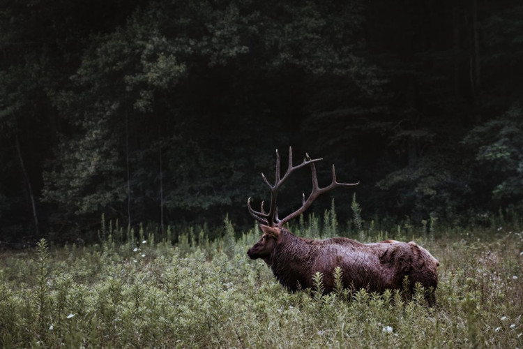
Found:
<path fill-rule="evenodd" d="M 336 267 L 342 270 L 342 281 L 345 288 L 361 289 L 368 292 L 383 292 L 386 289 L 402 289 L 404 279 L 409 280 L 412 291 L 416 283 L 421 283 L 427 290 L 426 297 L 430 304 L 434 302 L 434 292 L 438 283 L 437 267 L 439 262 L 425 248 L 415 242 L 398 242 L 386 240 L 372 244 L 362 244 L 345 237 L 314 240 L 296 237 L 284 228 L 284 224 L 303 213 L 319 195 L 337 187 L 352 187 L 359 184 L 340 183 L 336 179 L 335 168 L 332 168 L 332 182 L 329 186 L 320 188 L 318 185 L 315 163 L 321 158 L 310 158 L 305 153 L 305 159 L 299 165 L 293 165 L 292 149 L 289 147 L 289 165 L 287 172 L 280 176 L 280 156 L 276 150 L 275 183 L 270 184 L 264 174 L 265 183 L 271 190 L 271 205 L 265 211 L 264 202 L 261 209 L 255 211 L 251 207 L 251 199 L 247 201 L 248 211 L 259 221 L 261 239 L 248 251 L 247 255 L 255 260 L 261 258 L 273 271 L 278 281 L 289 290 L 295 292 L 298 288 L 312 288 L 312 276 L 316 272 L 324 275 L 325 292 L 334 288 L 333 272 Z M 310 167 L 312 173 L 312 192 L 301 207 L 280 219 L 276 199 L 282 184 L 290 174 L 299 168 Z"/>

